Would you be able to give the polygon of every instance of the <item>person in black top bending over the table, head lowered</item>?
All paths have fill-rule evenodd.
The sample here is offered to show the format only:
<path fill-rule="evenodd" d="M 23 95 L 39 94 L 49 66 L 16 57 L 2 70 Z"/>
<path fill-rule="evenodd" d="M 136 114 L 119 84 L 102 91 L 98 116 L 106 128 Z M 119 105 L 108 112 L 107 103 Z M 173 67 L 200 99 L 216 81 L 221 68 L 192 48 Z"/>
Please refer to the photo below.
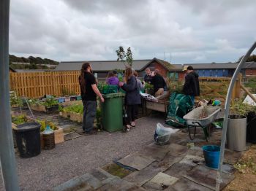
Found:
<path fill-rule="evenodd" d="M 154 70 L 154 77 L 152 77 L 151 84 L 154 86 L 154 96 L 158 97 L 164 93 L 166 86 L 165 79 L 160 75 L 159 69 Z"/>

